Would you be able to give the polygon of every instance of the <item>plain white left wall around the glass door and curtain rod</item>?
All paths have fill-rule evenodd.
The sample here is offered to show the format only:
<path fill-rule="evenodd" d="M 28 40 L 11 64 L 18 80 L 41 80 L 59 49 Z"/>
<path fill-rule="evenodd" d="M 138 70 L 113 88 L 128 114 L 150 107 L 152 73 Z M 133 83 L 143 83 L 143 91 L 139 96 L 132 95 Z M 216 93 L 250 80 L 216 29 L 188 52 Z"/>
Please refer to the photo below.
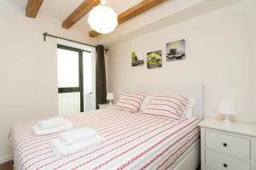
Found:
<path fill-rule="evenodd" d="M 54 116 L 58 111 L 56 40 L 43 32 L 94 44 L 86 32 L 0 1 L 0 163 L 9 158 L 9 129 L 17 122 Z"/>

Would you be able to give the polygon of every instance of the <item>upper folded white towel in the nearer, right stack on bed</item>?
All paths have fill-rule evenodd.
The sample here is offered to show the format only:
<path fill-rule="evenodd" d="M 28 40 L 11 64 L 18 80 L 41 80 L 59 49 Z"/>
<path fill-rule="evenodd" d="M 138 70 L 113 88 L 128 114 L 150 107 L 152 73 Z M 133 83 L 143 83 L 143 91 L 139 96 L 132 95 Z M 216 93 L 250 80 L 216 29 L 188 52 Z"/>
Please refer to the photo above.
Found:
<path fill-rule="evenodd" d="M 60 135 L 63 143 L 69 145 L 95 137 L 97 133 L 93 128 L 83 127 L 73 131 L 61 133 Z"/>

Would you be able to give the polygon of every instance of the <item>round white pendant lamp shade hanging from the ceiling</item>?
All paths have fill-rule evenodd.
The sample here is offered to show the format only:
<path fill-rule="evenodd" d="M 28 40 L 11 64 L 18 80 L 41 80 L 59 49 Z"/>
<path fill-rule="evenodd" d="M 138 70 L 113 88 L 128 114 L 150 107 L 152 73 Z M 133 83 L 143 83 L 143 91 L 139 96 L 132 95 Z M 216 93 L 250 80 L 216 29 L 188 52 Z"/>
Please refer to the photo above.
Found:
<path fill-rule="evenodd" d="M 99 5 L 90 10 L 88 23 L 92 30 L 108 34 L 118 26 L 117 14 L 112 8 Z"/>

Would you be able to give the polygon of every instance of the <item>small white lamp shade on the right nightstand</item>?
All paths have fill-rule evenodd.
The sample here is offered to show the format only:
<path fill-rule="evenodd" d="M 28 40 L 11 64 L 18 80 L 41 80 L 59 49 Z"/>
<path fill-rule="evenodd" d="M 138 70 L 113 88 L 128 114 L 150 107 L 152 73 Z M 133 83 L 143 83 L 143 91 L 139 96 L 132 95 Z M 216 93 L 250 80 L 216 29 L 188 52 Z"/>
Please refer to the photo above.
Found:
<path fill-rule="evenodd" d="M 221 99 L 218 105 L 218 113 L 224 115 L 236 115 L 236 106 L 230 99 Z"/>

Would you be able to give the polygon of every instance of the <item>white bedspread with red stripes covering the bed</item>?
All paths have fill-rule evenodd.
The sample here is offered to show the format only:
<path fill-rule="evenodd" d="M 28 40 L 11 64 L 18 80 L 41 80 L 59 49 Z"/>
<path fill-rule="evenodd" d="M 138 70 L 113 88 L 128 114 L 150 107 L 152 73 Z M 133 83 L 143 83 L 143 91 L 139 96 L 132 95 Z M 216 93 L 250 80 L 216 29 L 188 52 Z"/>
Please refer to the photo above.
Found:
<path fill-rule="evenodd" d="M 170 121 L 157 116 L 105 109 L 67 116 L 74 128 L 92 127 L 102 144 L 71 156 L 58 157 L 49 149 L 59 134 L 34 136 L 37 122 L 15 125 L 9 134 L 15 169 L 166 169 L 199 139 L 199 119 Z"/>

